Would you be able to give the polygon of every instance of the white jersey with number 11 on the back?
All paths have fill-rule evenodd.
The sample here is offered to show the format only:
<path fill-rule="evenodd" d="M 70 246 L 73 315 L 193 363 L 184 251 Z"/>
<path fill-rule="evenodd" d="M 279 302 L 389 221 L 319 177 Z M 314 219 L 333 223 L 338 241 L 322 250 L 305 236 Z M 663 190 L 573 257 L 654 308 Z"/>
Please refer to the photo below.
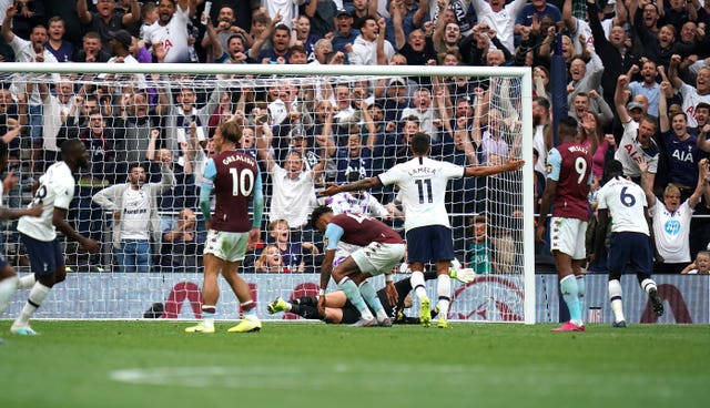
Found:
<path fill-rule="evenodd" d="M 396 184 L 404 207 L 404 228 L 444 225 L 450 227 L 446 212 L 446 185 L 460 178 L 465 169 L 428 157 L 415 157 L 378 175 L 384 185 Z"/>

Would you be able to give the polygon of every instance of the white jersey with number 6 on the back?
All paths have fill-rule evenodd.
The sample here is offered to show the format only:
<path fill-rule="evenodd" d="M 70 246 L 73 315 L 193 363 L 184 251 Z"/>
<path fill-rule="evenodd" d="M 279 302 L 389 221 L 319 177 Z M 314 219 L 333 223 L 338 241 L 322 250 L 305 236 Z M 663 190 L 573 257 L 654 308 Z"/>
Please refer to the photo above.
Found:
<path fill-rule="evenodd" d="M 636 183 L 623 177 L 607 182 L 597 194 L 598 208 L 609 210 L 612 233 L 642 233 L 649 235 L 646 222 L 646 194 Z"/>

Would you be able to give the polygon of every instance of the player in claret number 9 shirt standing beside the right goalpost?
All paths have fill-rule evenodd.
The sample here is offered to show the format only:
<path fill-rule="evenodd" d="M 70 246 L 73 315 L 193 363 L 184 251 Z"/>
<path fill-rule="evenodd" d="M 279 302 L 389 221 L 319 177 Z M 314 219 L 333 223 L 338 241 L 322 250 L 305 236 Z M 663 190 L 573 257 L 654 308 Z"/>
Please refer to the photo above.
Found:
<path fill-rule="evenodd" d="M 570 317 L 554 332 L 585 330 L 581 320 L 585 297 L 581 264 L 587 257 L 585 238 L 589 222 L 587 195 L 591 184 L 591 155 L 587 146 L 577 142 L 577 133 L 576 119 L 567 116 L 559 121 L 561 143 L 547 155 L 547 185 L 537 226 L 537 239 L 544 242 L 547 213 L 554 203 L 550 248 Z"/>

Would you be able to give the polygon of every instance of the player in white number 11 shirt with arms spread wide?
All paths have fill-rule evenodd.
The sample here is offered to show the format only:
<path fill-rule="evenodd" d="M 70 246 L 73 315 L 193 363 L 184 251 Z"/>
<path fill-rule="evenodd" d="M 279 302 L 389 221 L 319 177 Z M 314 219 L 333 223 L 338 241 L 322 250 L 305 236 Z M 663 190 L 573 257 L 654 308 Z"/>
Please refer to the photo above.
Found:
<path fill-rule="evenodd" d="M 429 136 L 415 133 L 412 136 L 414 159 L 400 163 L 388 171 L 352 184 L 332 185 L 321 195 L 334 195 L 341 192 L 367 190 L 379 185 L 395 184 L 402 194 L 404 206 L 409 268 L 412 286 L 419 298 L 419 319 L 424 326 L 432 324 L 429 298 L 424 286 L 424 264 L 436 265 L 437 295 L 439 317 L 437 326 L 448 327 L 446 315 L 452 296 L 452 282 L 448 268 L 454 259 L 454 241 L 452 227 L 446 213 L 446 184 L 449 178 L 463 176 L 485 176 L 508 171 L 516 171 L 525 164 L 521 160 L 508 160 L 505 164 L 490 166 L 462 167 L 448 162 L 428 159 Z"/>

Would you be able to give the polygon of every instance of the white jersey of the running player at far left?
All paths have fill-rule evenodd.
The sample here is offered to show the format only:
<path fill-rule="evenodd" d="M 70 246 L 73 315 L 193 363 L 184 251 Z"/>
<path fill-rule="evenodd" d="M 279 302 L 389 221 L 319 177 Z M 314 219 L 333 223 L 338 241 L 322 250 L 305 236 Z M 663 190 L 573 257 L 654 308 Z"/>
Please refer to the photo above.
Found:
<path fill-rule="evenodd" d="M 33 204 L 43 204 L 42 215 L 39 217 L 23 216 L 18 223 L 18 231 L 38 241 L 53 241 L 57 230 L 52 223 L 54 207 L 69 210 L 74 198 L 74 181 L 71 170 L 64 162 L 52 164 L 40 177 L 40 186 L 34 193 Z"/>

